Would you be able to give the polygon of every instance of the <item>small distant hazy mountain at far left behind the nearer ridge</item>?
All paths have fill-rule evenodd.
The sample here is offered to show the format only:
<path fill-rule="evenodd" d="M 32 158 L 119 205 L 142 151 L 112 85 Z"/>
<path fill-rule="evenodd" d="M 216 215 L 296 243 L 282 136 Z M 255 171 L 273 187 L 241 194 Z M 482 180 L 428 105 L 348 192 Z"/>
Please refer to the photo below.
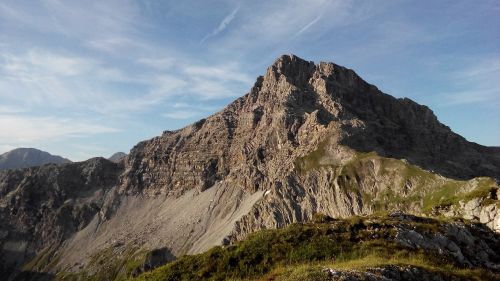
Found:
<path fill-rule="evenodd" d="M 70 162 L 69 159 L 35 148 L 16 148 L 0 155 L 0 170 L 28 168 L 48 163 L 65 164 Z"/>

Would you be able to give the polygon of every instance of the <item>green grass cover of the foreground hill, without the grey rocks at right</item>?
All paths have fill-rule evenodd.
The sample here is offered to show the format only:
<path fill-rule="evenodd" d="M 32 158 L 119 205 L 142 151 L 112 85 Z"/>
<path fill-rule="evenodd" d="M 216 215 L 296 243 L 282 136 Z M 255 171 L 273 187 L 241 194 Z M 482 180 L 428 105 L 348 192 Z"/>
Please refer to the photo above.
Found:
<path fill-rule="evenodd" d="M 442 255 L 392 242 L 396 223 L 388 217 L 352 218 L 262 230 L 234 246 L 180 257 L 136 280 L 327 280 L 324 267 L 362 270 L 389 264 L 470 280 L 493 278 L 482 269 L 458 268 Z M 432 231 L 441 224 L 433 220 L 412 227 Z"/>

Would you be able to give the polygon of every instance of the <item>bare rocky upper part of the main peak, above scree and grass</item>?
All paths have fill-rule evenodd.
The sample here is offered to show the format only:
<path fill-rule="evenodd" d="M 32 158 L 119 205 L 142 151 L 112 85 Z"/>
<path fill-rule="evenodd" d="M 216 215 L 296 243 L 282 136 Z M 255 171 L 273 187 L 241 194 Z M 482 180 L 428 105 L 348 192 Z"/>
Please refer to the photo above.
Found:
<path fill-rule="evenodd" d="M 454 134 L 429 108 L 384 94 L 351 69 L 283 55 L 222 111 L 136 146 L 122 190 L 183 194 L 224 179 L 262 190 L 325 142 L 454 178 L 500 174 L 498 156 L 484 157 L 488 148 Z"/>

